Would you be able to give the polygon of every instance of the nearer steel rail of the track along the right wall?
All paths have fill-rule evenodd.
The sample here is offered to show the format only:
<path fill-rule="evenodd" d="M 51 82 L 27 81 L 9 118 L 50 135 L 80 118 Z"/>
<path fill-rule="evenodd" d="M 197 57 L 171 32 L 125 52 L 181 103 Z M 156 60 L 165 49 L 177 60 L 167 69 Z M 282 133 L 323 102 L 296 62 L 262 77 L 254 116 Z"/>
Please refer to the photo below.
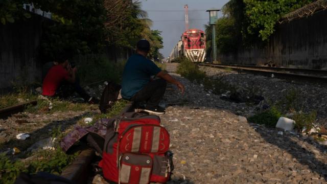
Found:
<path fill-rule="evenodd" d="M 226 66 L 228 66 L 228 68 L 231 68 L 232 70 L 256 74 L 256 75 L 263 75 L 263 76 L 267 76 L 267 77 L 271 77 L 271 75 L 273 74 L 275 78 L 279 78 L 279 79 L 327 83 L 327 77 L 318 77 L 318 76 L 310 76 L 310 75 L 300 75 L 300 74 L 292 74 L 292 73 L 285 73 L 285 72 L 277 72 L 277 71 L 272 71 L 269 69 L 263 70 L 261 68 L 257 68 L 258 66 L 250 68 L 250 66 L 243 67 L 243 66 L 239 66 L 239 65 L 232 66 L 232 65 L 205 64 L 205 63 L 201 63 L 198 65 L 209 66 L 209 67 L 218 67 L 218 68 L 226 68 Z"/>

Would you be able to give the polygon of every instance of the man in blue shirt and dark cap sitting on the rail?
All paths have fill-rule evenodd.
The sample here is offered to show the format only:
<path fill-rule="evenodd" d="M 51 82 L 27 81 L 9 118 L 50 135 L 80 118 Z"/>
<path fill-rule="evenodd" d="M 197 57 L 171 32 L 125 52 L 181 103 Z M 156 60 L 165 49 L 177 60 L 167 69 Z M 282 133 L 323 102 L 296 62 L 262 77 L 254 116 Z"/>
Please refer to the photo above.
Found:
<path fill-rule="evenodd" d="M 124 68 L 122 97 L 135 103 L 146 101 L 145 111 L 163 114 L 165 109 L 159 107 L 159 102 L 165 94 L 167 82 L 177 85 L 181 93 L 184 92 L 184 86 L 147 59 L 149 51 L 149 41 L 142 39 L 137 42 L 137 54 L 127 60 Z M 151 76 L 157 76 L 160 79 L 151 80 Z"/>

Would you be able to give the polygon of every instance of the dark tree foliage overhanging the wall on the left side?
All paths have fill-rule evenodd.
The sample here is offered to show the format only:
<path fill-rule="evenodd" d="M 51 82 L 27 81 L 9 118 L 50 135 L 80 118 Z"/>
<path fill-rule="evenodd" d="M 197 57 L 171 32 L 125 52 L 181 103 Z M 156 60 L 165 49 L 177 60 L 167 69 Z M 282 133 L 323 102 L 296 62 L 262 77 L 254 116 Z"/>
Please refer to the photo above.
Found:
<path fill-rule="evenodd" d="M 147 12 L 141 9 L 141 3 L 131 0 L 3 0 L 2 24 L 30 18 L 32 13 L 23 5 L 32 2 L 35 8 L 51 12 L 56 21 L 46 27 L 42 39 L 41 50 L 49 58 L 62 52 L 98 53 L 105 44 L 134 48 L 141 38 L 150 41 L 153 57 L 162 48 L 160 32 L 150 29 L 152 21 Z"/>

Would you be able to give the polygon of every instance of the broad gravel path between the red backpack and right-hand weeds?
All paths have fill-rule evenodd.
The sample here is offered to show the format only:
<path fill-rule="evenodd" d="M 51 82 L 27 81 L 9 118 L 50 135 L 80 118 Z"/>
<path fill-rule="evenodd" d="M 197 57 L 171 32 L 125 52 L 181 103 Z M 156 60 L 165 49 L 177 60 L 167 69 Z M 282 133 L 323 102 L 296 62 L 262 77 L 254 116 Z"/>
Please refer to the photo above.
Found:
<path fill-rule="evenodd" d="M 173 72 L 176 64 L 168 64 Z M 174 74 L 173 74 L 174 75 Z M 161 116 L 171 135 L 175 171 L 170 183 L 326 183 L 327 148 L 308 137 L 248 123 L 233 104 L 175 75 Z"/>

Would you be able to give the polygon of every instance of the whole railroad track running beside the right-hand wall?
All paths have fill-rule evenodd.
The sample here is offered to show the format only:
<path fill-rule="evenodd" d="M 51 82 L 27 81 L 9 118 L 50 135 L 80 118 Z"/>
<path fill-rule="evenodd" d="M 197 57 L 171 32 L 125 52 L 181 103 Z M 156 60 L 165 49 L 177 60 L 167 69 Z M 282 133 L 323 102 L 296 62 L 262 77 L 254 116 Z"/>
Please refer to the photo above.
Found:
<path fill-rule="evenodd" d="M 265 66 L 250 66 L 250 65 L 235 65 L 235 64 L 209 64 L 199 63 L 200 66 L 209 66 L 216 68 L 230 68 L 238 72 L 251 73 L 256 75 L 264 75 L 287 80 L 300 80 L 318 83 L 327 83 L 327 71 L 310 70 L 298 68 L 281 68 L 281 67 L 265 67 Z"/>

